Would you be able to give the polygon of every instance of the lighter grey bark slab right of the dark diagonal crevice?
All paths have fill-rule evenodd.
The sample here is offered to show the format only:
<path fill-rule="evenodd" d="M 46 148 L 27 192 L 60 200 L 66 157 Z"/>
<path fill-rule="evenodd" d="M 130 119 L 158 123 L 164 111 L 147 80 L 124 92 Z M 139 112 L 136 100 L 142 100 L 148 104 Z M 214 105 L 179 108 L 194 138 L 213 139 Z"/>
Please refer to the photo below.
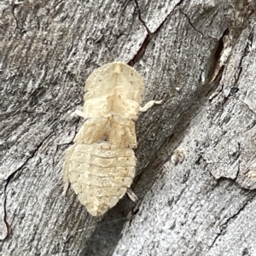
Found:
<path fill-rule="evenodd" d="M 256 254 L 255 18 L 218 88 L 201 95 L 159 152 L 173 152 L 113 255 Z M 196 114 L 195 114 L 196 113 Z M 195 114 L 195 116 L 194 116 Z M 192 118 L 192 119 L 191 119 Z M 178 145 L 177 145 L 178 144 Z M 176 150 L 174 145 L 177 145 Z"/>

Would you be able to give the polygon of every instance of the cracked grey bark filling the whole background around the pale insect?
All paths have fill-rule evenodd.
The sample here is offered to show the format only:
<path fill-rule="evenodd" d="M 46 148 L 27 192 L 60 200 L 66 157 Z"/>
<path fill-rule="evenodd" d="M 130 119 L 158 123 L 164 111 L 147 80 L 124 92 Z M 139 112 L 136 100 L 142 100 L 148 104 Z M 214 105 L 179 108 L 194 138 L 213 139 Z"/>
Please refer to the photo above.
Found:
<path fill-rule="evenodd" d="M 255 187 L 253 4 L 1 2 L 0 253 L 111 255 L 127 219 L 116 255 L 216 255 L 247 236 L 251 253 L 254 193 L 240 186 Z M 61 166 L 84 81 L 111 61 L 142 74 L 144 102 L 163 100 L 137 121 L 137 196 L 158 179 L 141 206 L 124 198 L 93 218 L 71 189 L 61 197 Z M 160 178 L 181 141 L 183 163 Z"/>

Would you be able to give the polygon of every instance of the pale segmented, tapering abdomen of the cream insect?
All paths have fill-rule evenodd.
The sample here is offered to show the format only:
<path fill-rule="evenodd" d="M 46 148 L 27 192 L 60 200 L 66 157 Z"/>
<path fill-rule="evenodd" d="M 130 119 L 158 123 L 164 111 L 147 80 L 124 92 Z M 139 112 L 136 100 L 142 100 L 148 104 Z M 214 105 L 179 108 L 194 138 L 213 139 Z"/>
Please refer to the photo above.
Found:
<path fill-rule="evenodd" d="M 79 201 L 97 216 L 116 205 L 130 188 L 136 157 L 131 148 L 117 148 L 105 141 L 78 143 L 68 165 L 68 177 Z"/>

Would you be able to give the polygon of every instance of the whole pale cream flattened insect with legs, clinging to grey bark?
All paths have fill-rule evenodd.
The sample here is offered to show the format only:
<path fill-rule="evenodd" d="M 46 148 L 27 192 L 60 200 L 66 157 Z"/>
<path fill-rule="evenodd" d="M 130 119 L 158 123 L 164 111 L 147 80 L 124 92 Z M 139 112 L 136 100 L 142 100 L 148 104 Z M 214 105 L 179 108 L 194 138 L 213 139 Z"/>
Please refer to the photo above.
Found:
<path fill-rule="evenodd" d="M 93 216 L 115 206 L 130 188 L 135 176 L 137 147 L 135 123 L 143 108 L 144 83 L 139 73 L 123 62 L 106 64 L 90 74 L 85 83 L 85 119 L 67 149 L 63 179 L 79 196 L 79 201 Z"/>

